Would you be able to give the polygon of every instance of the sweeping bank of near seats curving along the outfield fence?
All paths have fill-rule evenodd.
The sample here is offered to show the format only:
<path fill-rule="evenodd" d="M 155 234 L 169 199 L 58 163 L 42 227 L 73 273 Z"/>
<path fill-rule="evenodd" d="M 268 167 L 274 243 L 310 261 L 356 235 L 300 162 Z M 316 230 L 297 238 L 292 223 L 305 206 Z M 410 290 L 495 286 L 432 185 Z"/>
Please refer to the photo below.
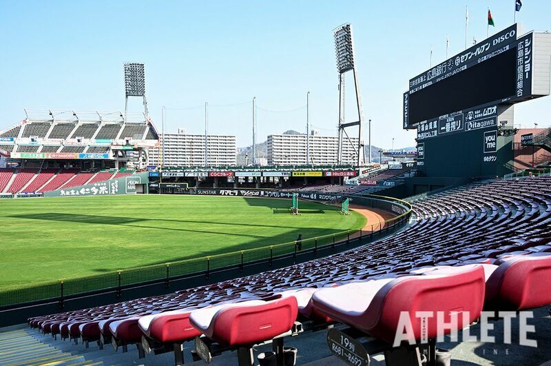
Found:
<path fill-rule="evenodd" d="M 369 323 L 365 318 L 353 317 L 360 316 L 360 307 L 363 308 L 362 312 L 366 312 L 365 316 L 373 316 L 372 309 L 382 311 L 381 306 L 387 309 L 385 301 L 413 301 L 406 295 L 399 296 L 400 284 L 406 281 L 418 283 L 409 288 L 419 290 L 417 298 L 422 299 L 420 303 L 429 304 L 435 309 L 442 307 L 444 310 L 460 304 L 472 309 L 475 315 L 479 312 L 477 306 L 481 306 L 484 301 L 484 291 L 490 294 L 486 298 L 486 305 L 497 303 L 500 308 L 537 307 L 551 301 L 548 292 L 542 290 L 550 285 L 548 274 L 551 256 L 543 255 L 551 252 L 550 176 L 471 183 L 432 196 L 413 199 L 412 204 L 415 216 L 408 228 L 359 249 L 258 275 L 183 289 L 173 294 L 30 318 L 30 325 L 41 328 L 45 333 L 61 334 L 62 338 L 83 336 L 84 339 L 97 340 L 101 332 L 105 339 L 115 337 L 116 344 L 119 325 L 134 326 L 137 323 L 147 337 L 157 337 L 152 336 L 149 327 L 157 319 L 163 319 L 159 312 L 167 312 L 167 316 L 174 316 L 182 325 L 189 325 L 191 317 L 191 324 L 203 334 L 221 343 L 238 345 L 242 341 L 231 338 L 231 332 L 239 307 L 247 304 L 241 303 L 242 301 L 258 301 L 252 305 L 249 303 L 253 314 L 260 307 L 271 303 L 273 296 L 284 298 L 285 294 L 289 295 L 289 290 L 309 288 L 304 294 L 313 296 L 311 301 L 308 296 L 305 296 L 304 301 L 301 294 L 293 295 L 298 303 L 302 303 L 303 310 L 307 307 L 304 304 L 311 303 L 314 309 L 326 316 L 386 339 L 388 329 L 395 319 L 383 317 L 378 322 Z M 475 263 L 493 263 L 493 267 L 486 264 L 470 265 Z M 467 267 L 457 270 L 449 267 L 459 265 Z M 531 270 L 534 268 L 537 270 Z M 413 274 L 416 276 L 412 276 Z M 423 276 L 417 276 L 418 274 Z M 545 281 L 539 283 L 542 281 L 542 274 Z M 441 280 L 433 281 L 439 276 Z M 508 279 L 510 276 L 523 278 L 523 283 L 517 285 L 518 282 Z M 347 285 L 349 283 L 351 284 Z M 442 287 L 444 283 L 445 288 Z M 470 283 L 468 291 L 460 286 L 461 283 Z M 441 289 L 442 294 L 450 296 L 440 296 L 437 301 L 428 295 L 424 297 L 426 294 L 420 289 L 430 289 L 433 284 Z M 322 289 L 319 292 L 312 290 L 335 285 L 341 287 Z M 425 285 L 428 287 L 424 287 Z M 366 288 L 360 289 L 362 286 Z M 347 291 L 349 287 L 353 287 L 353 291 Z M 396 298 L 375 296 L 380 291 L 388 293 L 391 288 L 397 289 Z M 496 291 L 498 288 L 500 290 Z M 371 297 L 361 299 L 363 306 L 360 306 L 361 302 L 353 305 L 353 301 L 346 302 L 348 307 L 337 304 L 344 296 L 350 299 L 358 296 L 360 291 L 371 294 Z M 431 289 L 426 293 L 434 291 L 436 290 Z M 338 296 L 334 296 L 337 292 Z M 325 296 L 324 293 L 328 295 Z M 369 305 L 371 302 L 378 302 L 378 305 L 372 307 Z M 220 327 L 218 331 L 217 319 L 223 313 L 215 315 L 214 312 L 222 310 L 218 306 L 229 303 L 240 305 L 231 305 L 237 308 L 236 312 L 227 316 L 227 326 Z M 224 306 L 226 308 L 227 305 Z M 186 313 L 185 309 L 195 308 L 202 309 L 198 310 L 197 316 L 194 316 L 193 311 Z M 182 313 L 178 313 L 178 310 Z M 290 318 L 293 318 L 293 312 Z M 113 325 L 116 319 L 122 318 L 132 320 Z M 282 324 L 289 325 L 289 318 L 282 316 L 281 319 L 284 320 Z M 71 327 L 74 324 L 78 324 L 78 331 L 77 327 Z M 170 322 L 164 324 L 158 326 L 176 326 Z M 241 325 L 235 324 L 235 327 L 239 326 Z M 134 332 L 136 328 L 132 329 Z M 155 334 L 157 332 L 159 331 Z M 244 336 L 243 333 L 240 332 L 239 336 Z M 133 334 L 132 338 L 135 339 L 135 336 Z M 183 338 L 187 336 L 182 334 Z M 256 334 L 248 336 L 256 337 Z M 256 342 L 261 338 L 266 337 L 247 338 L 247 341 Z"/>

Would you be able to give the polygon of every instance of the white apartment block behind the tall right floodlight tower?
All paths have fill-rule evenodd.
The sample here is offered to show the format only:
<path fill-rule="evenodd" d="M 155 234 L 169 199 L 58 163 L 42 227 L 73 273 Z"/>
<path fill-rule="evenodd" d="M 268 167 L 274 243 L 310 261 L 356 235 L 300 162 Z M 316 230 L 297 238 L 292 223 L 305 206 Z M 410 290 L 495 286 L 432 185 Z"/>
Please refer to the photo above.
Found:
<path fill-rule="evenodd" d="M 342 163 L 355 164 L 357 161 L 357 138 L 342 139 Z M 336 136 L 310 135 L 309 164 L 337 164 L 339 139 Z M 268 165 L 306 164 L 305 134 L 271 134 L 268 136 Z"/>

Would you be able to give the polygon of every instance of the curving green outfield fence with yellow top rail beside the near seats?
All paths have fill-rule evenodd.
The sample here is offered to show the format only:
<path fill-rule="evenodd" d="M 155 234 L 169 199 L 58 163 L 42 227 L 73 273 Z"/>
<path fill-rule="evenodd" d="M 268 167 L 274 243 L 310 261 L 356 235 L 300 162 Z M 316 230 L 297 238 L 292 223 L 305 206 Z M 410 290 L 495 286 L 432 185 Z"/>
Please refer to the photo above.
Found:
<path fill-rule="evenodd" d="M 244 267 L 251 265 L 251 263 L 265 263 L 265 270 L 271 270 L 273 269 L 273 262 L 278 258 L 297 258 L 304 253 L 317 254 L 318 250 L 328 248 L 337 252 L 337 250 L 369 243 L 375 238 L 399 230 L 399 228 L 406 225 L 412 212 L 409 203 L 391 197 L 353 196 L 353 203 L 395 212 L 397 216 L 364 227 L 362 230 L 349 230 L 313 238 L 303 238 L 300 243 L 293 241 L 238 252 L 117 270 L 95 276 L 66 278 L 28 287 L 6 289 L 0 291 L 0 309 L 13 309 L 52 301 L 59 301 L 60 308 L 63 308 L 63 303 L 68 298 L 105 292 L 115 292 L 120 296 L 123 289 L 154 283 L 159 283 L 167 288 L 171 281 L 186 276 L 204 275 L 205 279 L 208 280 L 213 272 L 231 267 L 235 267 L 242 272 Z"/>

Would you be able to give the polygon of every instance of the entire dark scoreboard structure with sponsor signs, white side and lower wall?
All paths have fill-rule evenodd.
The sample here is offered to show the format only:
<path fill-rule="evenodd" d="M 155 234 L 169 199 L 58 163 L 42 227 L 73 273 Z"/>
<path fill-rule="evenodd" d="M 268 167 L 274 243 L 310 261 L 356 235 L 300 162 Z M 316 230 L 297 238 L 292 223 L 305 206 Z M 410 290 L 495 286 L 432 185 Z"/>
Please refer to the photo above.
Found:
<path fill-rule="evenodd" d="M 409 81 L 403 127 L 417 130 L 424 176 L 510 172 L 514 104 L 550 94 L 551 34 L 517 24 Z"/>

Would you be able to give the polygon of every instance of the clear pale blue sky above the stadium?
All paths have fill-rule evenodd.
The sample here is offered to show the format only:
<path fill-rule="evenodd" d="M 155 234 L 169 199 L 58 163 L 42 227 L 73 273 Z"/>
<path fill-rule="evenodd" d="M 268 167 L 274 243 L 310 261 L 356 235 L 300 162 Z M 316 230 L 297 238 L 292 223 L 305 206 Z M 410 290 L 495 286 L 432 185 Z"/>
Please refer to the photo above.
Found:
<path fill-rule="evenodd" d="M 517 21 L 551 28 L 551 1 L 524 0 Z M 6 1 L 0 0 L 0 128 L 23 119 L 23 108 L 121 110 L 123 63 L 143 62 L 149 112 L 167 130 L 209 132 L 251 143 L 251 101 L 258 102 L 258 141 L 304 132 L 306 91 L 311 121 L 335 134 L 337 72 L 331 30 L 352 23 L 364 115 L 373 145 L 415 145 L 402 130 L 408 79 L 513 22 L 514 0 L 426 1 Z M 348 79 L 347 79 L 348 81 Z M 349 91 L 349 95 L 351 94 Z M 130 103 L 140 110 L 141 102 Z M 551 99 L 517 105 L 515 122 L 551 125 Z M 346 114 L 353 113 L 346 110 Z M 367 142 L 367 132 L 365 133 Z"/>

